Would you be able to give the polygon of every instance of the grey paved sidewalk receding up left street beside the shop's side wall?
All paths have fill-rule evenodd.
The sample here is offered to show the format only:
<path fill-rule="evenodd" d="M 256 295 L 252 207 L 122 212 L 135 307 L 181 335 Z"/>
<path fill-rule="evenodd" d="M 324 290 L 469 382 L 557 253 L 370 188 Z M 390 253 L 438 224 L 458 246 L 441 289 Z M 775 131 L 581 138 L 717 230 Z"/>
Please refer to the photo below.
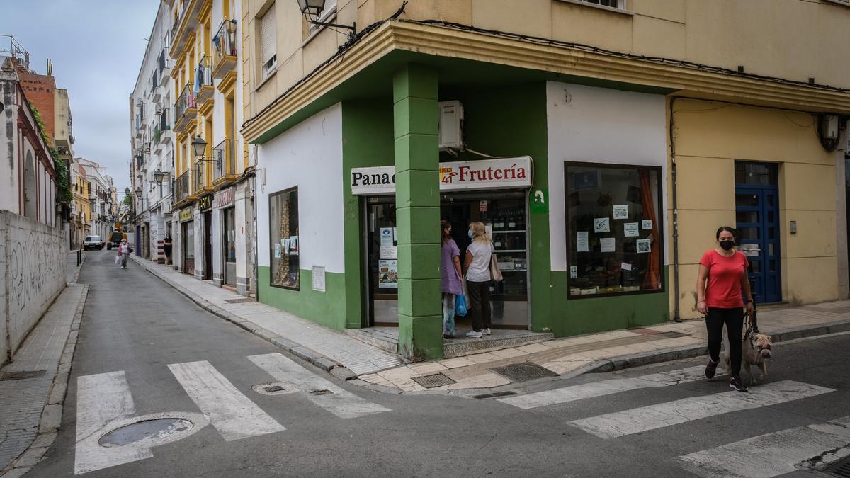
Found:
<path fill-rule="evenodd" d="M 279 345 L 293 355 L 343 378 L 397 367 L 401 358 L 283 310 L 260 304 L 212 282 L 196 280 L 167 265 L 131 256 L 136 264 L 183 293 L 195 304 Z M 345 369 L 348 370 L 345 370 Z M 350 371 L 350 372 L 349 372 Z"/>

